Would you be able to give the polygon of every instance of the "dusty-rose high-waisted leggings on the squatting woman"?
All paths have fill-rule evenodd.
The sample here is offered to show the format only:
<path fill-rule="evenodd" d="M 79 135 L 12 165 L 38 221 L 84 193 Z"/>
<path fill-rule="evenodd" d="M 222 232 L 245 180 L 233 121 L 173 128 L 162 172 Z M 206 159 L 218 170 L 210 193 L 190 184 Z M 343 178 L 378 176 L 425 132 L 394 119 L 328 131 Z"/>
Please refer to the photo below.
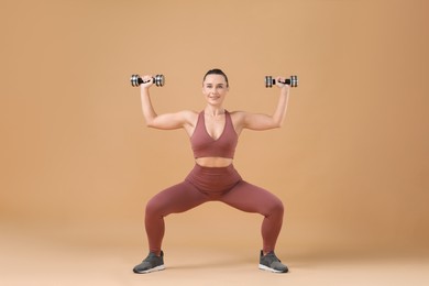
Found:
<path fill-rule="evenodd" d="M 283 223 L 282 201 L 267 190 L 243 180 L 233 165 L 202 167 L 198 164 L 183 183 L 164 189 L 147 202 L 145 229 L 150 251 L 161 252 L 164 217 L 207 201 L 222 201 L 239 210 L 264 216 L 261 228 L 263 251 L 274 251 Z"/>

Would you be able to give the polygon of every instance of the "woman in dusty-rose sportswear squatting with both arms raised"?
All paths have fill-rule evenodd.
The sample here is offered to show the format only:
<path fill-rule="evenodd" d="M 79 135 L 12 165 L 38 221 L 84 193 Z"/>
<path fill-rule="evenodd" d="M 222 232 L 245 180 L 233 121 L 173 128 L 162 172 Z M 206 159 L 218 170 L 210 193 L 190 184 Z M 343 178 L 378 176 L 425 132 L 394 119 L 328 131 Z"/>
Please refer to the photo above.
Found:
<path fill-rule="evenodd" d="M 288 272 L 287 266 L 274 254 L 283 222 L 282 201 L 267 190 L 243 180 L 232 164 L 243 129 L 268 130 L 282 125 L 289 95 L 289 86 L 283 84 L 285 78 L 276 78 L 280 96 L 273 116 L 227 111 L 223 101 L 229 91 L 229 82 L 227 75 L 220 69 L 207 72 L 202 79 L 202 95 L 207 105 L 199 113 L 179 111 L 157 114 L 148 92 L 153 78 L 144 76 L 142 79 L 142 109 L 147 127 L 162 130 L 183 128 L 189 135 L 196 164 L 183 183 L 164 189 L 147 202 L 145 229 L 150 253 L 134 267 L 134 273 L 165 268 L 162 251 L 164 217 L 187 211 L 207 201 L 222 201 L 239 210 L 264 216 L 258 267 L 276 273 Z"/>

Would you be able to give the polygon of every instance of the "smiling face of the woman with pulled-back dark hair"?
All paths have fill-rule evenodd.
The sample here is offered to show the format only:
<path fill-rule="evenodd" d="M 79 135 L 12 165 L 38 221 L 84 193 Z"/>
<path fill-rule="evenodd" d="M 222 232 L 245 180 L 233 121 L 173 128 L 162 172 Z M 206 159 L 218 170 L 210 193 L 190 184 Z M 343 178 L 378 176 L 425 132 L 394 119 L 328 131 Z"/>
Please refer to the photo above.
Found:
<path fill-rule="evenodd" d="M 227 80 L 222 75 L 208 75 L 202 82 L 202 94 L 212 106 L 221 106 L 228 90 Z"/>

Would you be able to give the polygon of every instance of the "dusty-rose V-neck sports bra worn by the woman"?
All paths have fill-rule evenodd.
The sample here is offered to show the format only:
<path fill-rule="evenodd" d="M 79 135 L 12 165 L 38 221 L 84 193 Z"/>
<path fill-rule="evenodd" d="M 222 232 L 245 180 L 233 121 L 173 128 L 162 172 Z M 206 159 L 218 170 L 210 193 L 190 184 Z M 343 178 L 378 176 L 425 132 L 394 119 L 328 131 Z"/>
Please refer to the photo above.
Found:
<path fill-rule="evenodd" d="M 239 135 L 232 124 L 231 116 L 226 110 L 226 123 L 222 134 L 215 140 L 207 132 L 205 112 L 198 114 L 197 125 L 190 136 L 190 145 L 194 151 L 194 157 L 224 157 L 233 158 Z"/>

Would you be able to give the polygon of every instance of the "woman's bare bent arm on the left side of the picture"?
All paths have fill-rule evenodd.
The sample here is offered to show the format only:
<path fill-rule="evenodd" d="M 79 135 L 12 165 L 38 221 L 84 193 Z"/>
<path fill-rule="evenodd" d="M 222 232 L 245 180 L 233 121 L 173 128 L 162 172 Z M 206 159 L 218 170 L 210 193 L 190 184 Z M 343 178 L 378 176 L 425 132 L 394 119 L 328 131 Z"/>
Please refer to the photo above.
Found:
<path fill-rule="evenodd" d="M 195 112 L 179 111 L 158 116 L 153 108 L 148 92 L 150 87 L 153 85 L 153 78 L 152 76 L 144 76 L 142 79 L 147 81 L 145 84 L 141 84 L 142 111 L 146 125 L 162 130 L 185 128 L 189 133 L 189 128 L 191 128 L 193 122 L 195 121 Z"/>

